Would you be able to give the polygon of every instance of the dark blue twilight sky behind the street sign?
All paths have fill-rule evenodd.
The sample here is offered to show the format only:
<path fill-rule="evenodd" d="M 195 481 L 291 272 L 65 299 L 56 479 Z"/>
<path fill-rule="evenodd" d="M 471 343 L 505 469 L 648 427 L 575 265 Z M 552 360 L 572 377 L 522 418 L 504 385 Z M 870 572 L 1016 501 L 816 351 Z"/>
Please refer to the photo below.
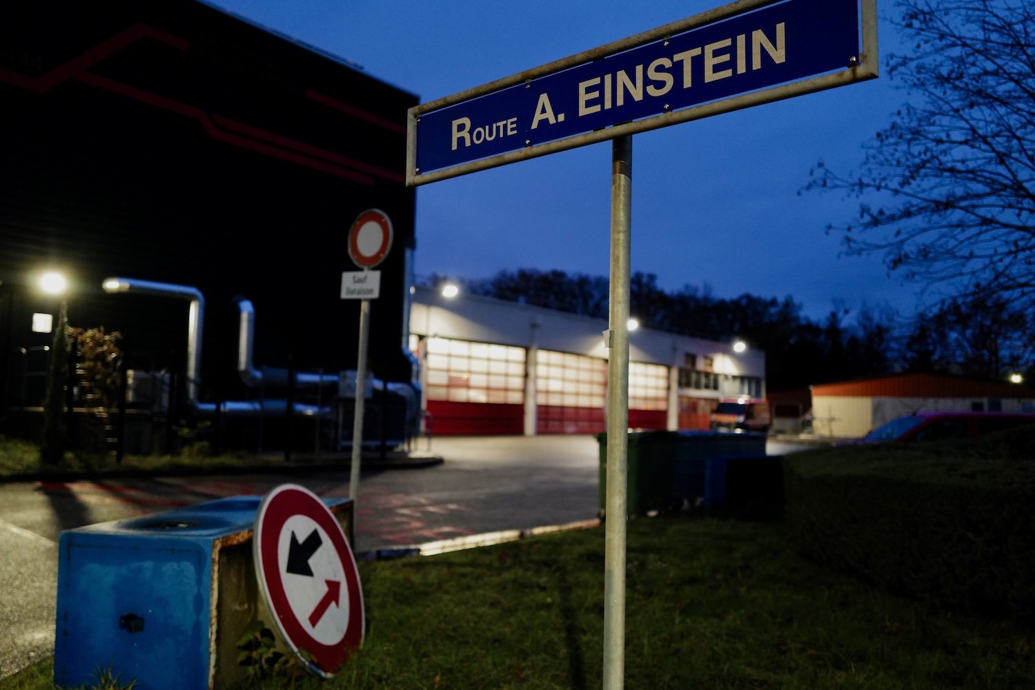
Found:
<path fill-rule="evenodd" d="M 724 3 L 714 0 L 207 0 L 351 62 L 426 102 Z M 882 3 L 879 11 L 893 8 Z M 899 37 L 879 24 L 882 57 Z M 880 79 L 642 132 L 632 144 L 633 272 L 670 292 L 791 296 L 806 318 L 889 306 L 917 287 L 879 257 L 839 257 L 827 223 L 858 204 L 798 190 L 819 160 L 858 168 L 908 94 Z M 560 269 L 607 276 L 609 142 L 417 188 L 418 278 Z M 849 316 L 853 321 L 854 316 Z"/>

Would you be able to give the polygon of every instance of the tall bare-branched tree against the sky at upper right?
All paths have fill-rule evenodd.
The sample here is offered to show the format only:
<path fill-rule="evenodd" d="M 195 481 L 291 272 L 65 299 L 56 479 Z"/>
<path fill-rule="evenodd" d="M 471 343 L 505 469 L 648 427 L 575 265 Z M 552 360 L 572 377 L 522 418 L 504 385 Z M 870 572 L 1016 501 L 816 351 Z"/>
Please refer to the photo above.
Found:
<path fill-rule="evenodd" d="M 858 175 L 821 162 L 805 189 L 860 200 L 850 254 L 881 252 L 939 297 L 1035 296 L 1035 3 L 899 0 L 912 52 L 890 55 L 910 103 Z"/>

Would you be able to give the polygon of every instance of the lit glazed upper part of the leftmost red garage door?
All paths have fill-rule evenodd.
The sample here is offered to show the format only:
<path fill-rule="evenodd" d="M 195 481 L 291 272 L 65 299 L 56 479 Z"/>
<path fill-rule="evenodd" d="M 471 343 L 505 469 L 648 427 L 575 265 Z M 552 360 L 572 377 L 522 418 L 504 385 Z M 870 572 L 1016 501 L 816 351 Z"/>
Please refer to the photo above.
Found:
<path fill-rule="evenodd" d="M 433 337 L 427 340 L 427 399 L 525 401 L 525 350 Z"/>

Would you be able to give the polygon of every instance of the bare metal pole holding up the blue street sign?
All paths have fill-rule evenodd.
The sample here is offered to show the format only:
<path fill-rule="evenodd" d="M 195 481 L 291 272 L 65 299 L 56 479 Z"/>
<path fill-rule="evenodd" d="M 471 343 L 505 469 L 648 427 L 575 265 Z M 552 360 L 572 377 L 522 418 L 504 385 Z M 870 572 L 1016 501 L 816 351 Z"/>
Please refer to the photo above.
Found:
<path fill-rule="evenodd" d="M 611 307 L 603 550 L 603 690 L 625 680 L 625 532 L 629 426 L 629 254 L 632 137 L 612 144 Z"/>

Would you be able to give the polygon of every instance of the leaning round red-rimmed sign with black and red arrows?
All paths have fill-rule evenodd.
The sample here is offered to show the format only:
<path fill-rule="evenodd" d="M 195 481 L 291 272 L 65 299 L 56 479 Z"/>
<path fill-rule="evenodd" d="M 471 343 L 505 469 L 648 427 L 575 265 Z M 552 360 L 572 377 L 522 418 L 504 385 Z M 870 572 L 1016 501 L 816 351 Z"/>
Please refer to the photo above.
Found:
<path fill-rule="evenodd" d="M 259 589 L 295 656 L 328 678 L 363 641 L 356 560 L 330 508 L 296 484 L 267 493 L 253 537 Z M 306 658 L 307 657 L 307 658 Z"/>

